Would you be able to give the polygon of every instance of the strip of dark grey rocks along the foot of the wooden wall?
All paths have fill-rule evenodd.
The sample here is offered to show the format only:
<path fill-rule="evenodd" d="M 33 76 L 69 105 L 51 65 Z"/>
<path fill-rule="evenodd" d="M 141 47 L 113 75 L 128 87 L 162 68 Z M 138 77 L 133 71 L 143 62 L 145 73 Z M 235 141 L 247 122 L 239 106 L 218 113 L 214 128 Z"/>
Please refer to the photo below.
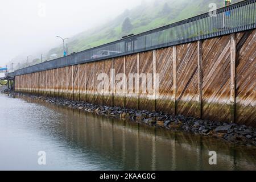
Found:
<path fill-rule="evenodd" d="M 179 130 L 209 137 L 222 138 L 228 142 L 243 144 L 246 146 L 256 146 L 256 129 L 245 125 L 237 125 L 236 123 L 222 123 L 193 117 L 185 117 L 183 115 L 170 115 L 162 112 L 124 109 L 117 106 L 102 106 L 89 104 L 83 101 L 34 96 L 31 94 L 12 92 L 10 90 L 3 90 L 2 92 L 13 96 L 26 96 L 35 100 L 46 101 L 51 104 L 71 107 L 72 109 L 106 115 L 107 117 L 127 119 L 127 121 L 143 123 L 149 126 L 163 127 L 168 130 Z"/>

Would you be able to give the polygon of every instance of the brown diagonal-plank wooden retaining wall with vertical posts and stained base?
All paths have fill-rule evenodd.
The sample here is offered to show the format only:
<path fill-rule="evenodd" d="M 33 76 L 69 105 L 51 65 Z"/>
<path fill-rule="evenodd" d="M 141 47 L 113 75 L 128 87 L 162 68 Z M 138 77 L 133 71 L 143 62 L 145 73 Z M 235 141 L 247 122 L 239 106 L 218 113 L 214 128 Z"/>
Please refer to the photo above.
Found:
<path fill-rule="evenodd" d="M 256 127 L 255 34 L 251 30 L 16 76 L 15 90 Z M 108 81 L 98 90 L 101 73 Z M 119 73 L 126 78 L 117 77 Z M 152 78 L 143 81 L 142 74 Z M 143 86 L 154 85 L 156 75 L 158 94 L 152 94 L 155 88 L 143 93 Z"/>

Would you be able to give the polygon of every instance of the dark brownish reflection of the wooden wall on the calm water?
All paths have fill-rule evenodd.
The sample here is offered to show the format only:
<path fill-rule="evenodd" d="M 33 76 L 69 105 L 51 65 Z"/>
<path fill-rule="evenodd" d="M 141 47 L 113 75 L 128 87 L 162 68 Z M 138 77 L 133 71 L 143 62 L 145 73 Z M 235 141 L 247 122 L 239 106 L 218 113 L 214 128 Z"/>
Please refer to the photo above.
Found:
<path fill-rule="evenodd" d="M 50 129 L 56 137 L 121 169 L 256 169 L 254 148 L 40 103 L 61 113 L 56 128 Z M 208 163 L 212 150 L 217 166 Z"/>

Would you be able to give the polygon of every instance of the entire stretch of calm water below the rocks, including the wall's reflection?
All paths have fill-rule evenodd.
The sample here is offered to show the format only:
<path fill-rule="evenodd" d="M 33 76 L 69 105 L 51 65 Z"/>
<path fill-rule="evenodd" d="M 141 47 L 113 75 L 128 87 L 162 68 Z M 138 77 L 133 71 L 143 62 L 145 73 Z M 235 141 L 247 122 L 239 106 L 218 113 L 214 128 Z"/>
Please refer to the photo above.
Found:
<path fill-rule="evenodd" d="M 46 165 L 38 152 L 46 152 Z M 209 165 L 209 151 L 217 165 Z M 0 94 L 1 170 L 252 170 L 255 148 Z"/>

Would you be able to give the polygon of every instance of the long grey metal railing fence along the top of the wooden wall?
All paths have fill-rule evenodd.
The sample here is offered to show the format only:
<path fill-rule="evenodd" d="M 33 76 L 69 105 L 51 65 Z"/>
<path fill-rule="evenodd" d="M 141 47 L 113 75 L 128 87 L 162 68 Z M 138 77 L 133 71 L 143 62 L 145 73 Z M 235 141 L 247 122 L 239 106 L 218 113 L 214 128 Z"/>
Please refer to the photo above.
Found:
<path fill-rule="evenodd" d="M 256 28 L 255 0 L 242 1 L 112 43 L 9 73 L 9 77 L 129 55 Z"/>

